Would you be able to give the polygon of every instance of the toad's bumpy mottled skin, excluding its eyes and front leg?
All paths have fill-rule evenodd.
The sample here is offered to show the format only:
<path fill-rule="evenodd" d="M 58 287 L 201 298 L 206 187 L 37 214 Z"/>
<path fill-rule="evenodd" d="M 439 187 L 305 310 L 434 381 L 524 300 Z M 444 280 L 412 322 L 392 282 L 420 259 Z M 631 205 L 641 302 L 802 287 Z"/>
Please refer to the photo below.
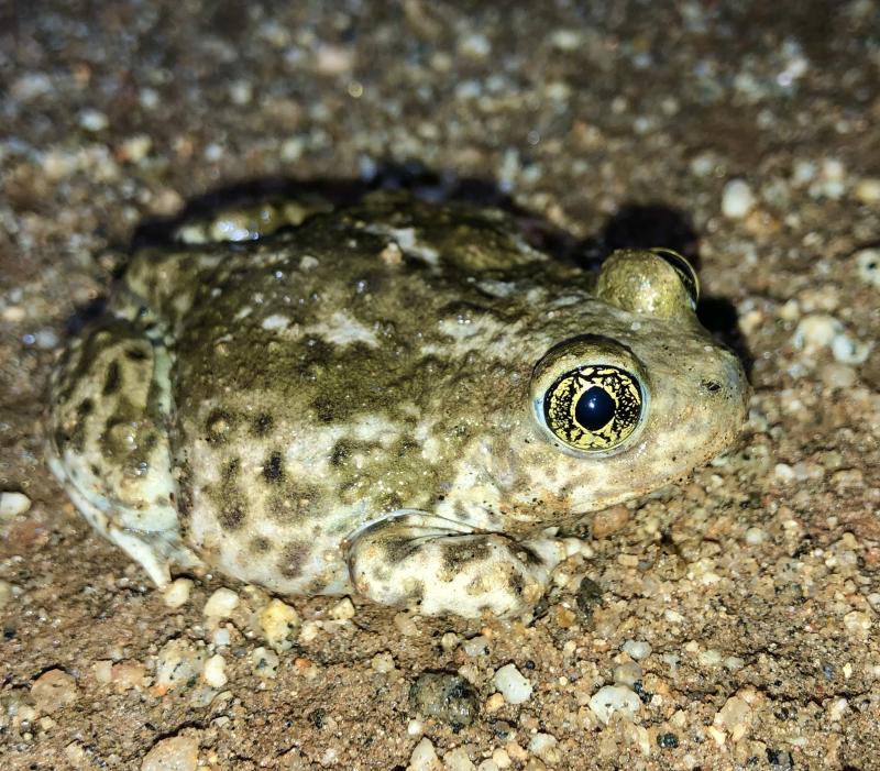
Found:
<path fill-rule="evenodd" d="M 140 253 L 112 304 L 124 329 L 62 367 L 53 469 L 96 527 L 153 552 L 154 577 L 200 561 L 283 594 L 351 591 L 346 549 L 394 513 L 515 538 L 571 525 L 717 454 L 748 392 L 693 312 L 631 312 L 594 286 L 506 214 L 406 196 Z M 604 453 L 556 441 L 531 393 L 548 351 L 584 335 L 645 381 L 641 425 Z"/>

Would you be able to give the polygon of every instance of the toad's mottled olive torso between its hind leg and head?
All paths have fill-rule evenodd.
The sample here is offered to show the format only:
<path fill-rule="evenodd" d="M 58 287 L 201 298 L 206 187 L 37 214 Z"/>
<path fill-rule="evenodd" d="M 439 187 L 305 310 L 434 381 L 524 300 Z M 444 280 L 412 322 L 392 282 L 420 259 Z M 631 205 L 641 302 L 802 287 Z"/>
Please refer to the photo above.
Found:
<path fill-rule="evenodd" d="M 373 199 L 205 261 L 176 321 L 173 447 L 182 525 L 209 564 L 285 593 L 344 591 L 346 536 L 437 508 L 479 411 L 468 384 L 528 379 L 528 356 L 481 363 L 515 337 L 524 299 L 474 277 L 543 255 L 502 214 L 444 222 L 422 206 Z"/>

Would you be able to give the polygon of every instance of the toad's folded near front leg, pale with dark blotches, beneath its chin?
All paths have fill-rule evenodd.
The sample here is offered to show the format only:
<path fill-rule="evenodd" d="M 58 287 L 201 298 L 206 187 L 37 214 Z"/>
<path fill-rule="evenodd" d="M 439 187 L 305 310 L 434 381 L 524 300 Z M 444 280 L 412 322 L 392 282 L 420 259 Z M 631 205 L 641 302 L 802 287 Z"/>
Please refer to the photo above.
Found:
<path fill-rule="evenodd" d="M 354 537 L 349 570 L 355 588 L 377 603 L 416 603 L 426 615 L 501 616 L 530 608 L 565 555 L 553 538 L 516 541 L 435 515 L 399 513 Z"/>

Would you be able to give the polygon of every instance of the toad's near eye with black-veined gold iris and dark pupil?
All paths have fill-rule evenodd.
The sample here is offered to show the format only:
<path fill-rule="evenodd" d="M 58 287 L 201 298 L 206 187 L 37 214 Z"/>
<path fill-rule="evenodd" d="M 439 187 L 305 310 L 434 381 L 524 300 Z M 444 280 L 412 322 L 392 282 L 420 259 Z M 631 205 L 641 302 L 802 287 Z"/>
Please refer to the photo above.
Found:
<path fill-rule="evenodd" d="M 610 365 L 566 372 L 543 395 L 543 418 L 557 439 L 575 450 L 612 450 L 641 420 L 645 398 L 638 378 Z"/>

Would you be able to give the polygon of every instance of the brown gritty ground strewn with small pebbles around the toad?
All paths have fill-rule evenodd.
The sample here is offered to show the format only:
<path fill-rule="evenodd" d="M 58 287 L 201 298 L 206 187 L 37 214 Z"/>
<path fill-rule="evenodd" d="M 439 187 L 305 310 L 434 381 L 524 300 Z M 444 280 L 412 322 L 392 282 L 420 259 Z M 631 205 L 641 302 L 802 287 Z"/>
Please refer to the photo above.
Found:
<path fill-rule="evenodd" d="M 878 82 L 870 0 L 0 5 L 0 767 L 880 768 Z M 43 464 L 68 320 L 194 198 L 409 162 L 698 252 L 741 443 L 521 623 L 156 591 Z"/>

